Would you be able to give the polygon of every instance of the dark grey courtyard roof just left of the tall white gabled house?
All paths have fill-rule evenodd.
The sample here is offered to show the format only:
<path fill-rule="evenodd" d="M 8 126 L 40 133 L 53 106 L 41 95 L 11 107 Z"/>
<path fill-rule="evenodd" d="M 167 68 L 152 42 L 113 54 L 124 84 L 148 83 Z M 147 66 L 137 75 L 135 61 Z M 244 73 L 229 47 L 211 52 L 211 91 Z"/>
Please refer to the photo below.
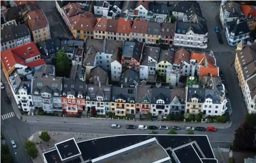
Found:
<path fill-rule="evenodd" d="M 105 71 L 103 68 L 97 66 L 91 69 L 90 72 L 90 83 L 99 85 L 106 85 L 108 83 L 108 72 Z"/>

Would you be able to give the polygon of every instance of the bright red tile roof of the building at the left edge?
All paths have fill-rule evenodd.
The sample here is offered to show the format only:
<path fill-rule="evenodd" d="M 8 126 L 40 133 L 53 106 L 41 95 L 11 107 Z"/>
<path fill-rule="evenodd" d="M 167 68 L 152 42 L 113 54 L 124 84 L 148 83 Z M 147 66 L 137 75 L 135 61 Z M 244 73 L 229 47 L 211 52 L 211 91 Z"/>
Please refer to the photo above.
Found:
<path fill-rule="evenodd" d="M 16 63 L 20 65 L 28 65 L 28 67 L 34 67 L 34 65 L 45 64 L 45 61 L 42 61 L 43 59 L 41 59 L 40 61 L 36 60 L 34 61 L 35 63 L 25 62 L 25 60 L 28 58 L 40 55 L 39 49 L 37 48 L 34 42 L 2 51 L 0 55 L 2 62 L 6 67 L 6 71 L 11 70 L 11 67 L 13 67 Z"/>

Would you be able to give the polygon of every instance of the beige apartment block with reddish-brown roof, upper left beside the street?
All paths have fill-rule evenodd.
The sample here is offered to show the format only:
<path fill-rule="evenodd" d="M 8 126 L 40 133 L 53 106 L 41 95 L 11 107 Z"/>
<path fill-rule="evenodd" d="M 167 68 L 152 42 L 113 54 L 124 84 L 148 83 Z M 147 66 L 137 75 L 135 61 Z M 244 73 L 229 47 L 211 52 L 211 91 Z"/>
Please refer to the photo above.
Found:
<path fill-rule="evenodd" d="M 28 14 L 28 27 L 35 43 L 51 38 L 49 22 L 42 9 Z"/>

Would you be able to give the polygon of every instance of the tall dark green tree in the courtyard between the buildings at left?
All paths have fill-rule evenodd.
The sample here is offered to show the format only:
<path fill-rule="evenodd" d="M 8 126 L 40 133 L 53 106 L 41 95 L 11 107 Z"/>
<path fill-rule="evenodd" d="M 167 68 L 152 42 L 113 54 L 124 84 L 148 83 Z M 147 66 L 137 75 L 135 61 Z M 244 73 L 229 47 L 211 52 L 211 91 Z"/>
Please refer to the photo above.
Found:
<path fill-rule="evenodd" d="M 70 63 L 64 50 L 59 50 L 56 57 L 56 75 L 69 77 Z"/>

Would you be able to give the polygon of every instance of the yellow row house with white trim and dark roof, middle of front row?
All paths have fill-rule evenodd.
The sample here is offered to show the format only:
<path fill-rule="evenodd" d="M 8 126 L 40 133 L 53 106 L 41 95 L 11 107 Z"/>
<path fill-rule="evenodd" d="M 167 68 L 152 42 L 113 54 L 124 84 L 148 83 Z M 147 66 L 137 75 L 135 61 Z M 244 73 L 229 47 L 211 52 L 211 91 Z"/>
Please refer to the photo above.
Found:
<path fill-rule="evenodd" d="M 115 87 L 111 90 L 111 112 L 114 115 L 125 116 L 136 113 L 136 88 Z"/>

